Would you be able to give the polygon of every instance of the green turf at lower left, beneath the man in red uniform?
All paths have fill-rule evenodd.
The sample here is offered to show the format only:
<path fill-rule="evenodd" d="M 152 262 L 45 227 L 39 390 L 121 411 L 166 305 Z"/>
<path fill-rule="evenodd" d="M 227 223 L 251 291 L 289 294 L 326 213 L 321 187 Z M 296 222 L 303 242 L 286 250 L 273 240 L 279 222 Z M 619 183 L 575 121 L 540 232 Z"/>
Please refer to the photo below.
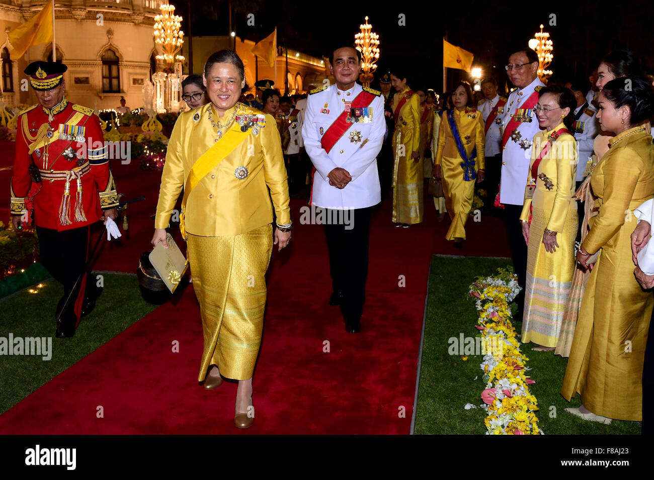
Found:
<path fill-rule="evenodd" d="M 141 298 L 135 275 L 94 272 L 103 276 L 104 290 L 95 309 L 80 321 L 72 338 L 56 338 L 54 310 L 63 295 L 61 284 L 44 281 L 0 300 L 0 337 L 50 337 L 50 360 L 43 355 L 0 355 L 0 414 L 69 368 L 156 306 Z"/>

